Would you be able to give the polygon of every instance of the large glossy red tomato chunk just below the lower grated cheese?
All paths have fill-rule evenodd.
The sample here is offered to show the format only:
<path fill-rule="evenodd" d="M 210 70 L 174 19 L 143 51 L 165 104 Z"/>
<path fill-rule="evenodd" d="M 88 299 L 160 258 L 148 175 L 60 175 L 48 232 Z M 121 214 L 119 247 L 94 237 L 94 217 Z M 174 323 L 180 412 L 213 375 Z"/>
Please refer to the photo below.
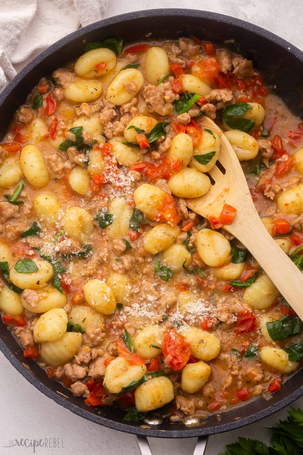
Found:
<path fill-rule="evenodd" d="M 179 371 L 189 361 L 191 347 L 182 335 L 172 329 L 164 335 L 162 352 L 165 363 Z"/>

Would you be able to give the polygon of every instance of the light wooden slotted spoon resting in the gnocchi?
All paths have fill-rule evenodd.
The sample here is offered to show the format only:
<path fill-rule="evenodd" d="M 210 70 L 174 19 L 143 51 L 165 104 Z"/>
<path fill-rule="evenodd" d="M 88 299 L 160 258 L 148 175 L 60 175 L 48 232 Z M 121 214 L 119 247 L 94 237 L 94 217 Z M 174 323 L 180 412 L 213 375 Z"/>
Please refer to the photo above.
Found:
<path fill-rule="evenodd" d="M 204 127 L 216 132 L 221 139 L 219 162 L 225 174 L 214 166 L 209 174 L 214 185 L 204 196 L 187 200 L 187 206 L 205 218 L 219 217 L 224 204 L 237 209 L 232 224 L 224 229 L 235 236 L 250 251 L 268 274 L 289 305 L 303 320 L 303 274 L 268 233 L 250 196 L 248 185 L 233 147 L 219 126 L 204 117 Z"/>

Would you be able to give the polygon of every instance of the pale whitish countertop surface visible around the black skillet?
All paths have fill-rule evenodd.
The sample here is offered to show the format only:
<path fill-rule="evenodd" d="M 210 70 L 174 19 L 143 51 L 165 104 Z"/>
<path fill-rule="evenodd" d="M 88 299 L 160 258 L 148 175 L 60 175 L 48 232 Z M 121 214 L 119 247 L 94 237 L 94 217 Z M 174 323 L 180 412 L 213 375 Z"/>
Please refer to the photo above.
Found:
<path fill-rule="evenodd" d="M 151 8 L 193 8 L 210 10 L 238 17 L 260 25 L 303 49 L 303 3 L 301 0 L 212 0 L 211 5 L 201 0 L 109 0 L 107 15 Z M 29 384 L 0 353 L 0 454 L 28 455 L 32 448 L 5 448 L 10 440 L 21 438 L 63 439 L 63 448 L 37 448 L 38 455 L 139 455 L 135 436 L 103 428 L 61 408 Z M 303 398 L 294 403 L 303 407 Z M 207 455 L 217 455 L 224 445 L 238 436 L 268 440 L 263 427 L 283 419 L 286 411 L 237 431 L 209 438 Z M 149 440 L 154 455 L 190 455 L 195 440 Z"/>

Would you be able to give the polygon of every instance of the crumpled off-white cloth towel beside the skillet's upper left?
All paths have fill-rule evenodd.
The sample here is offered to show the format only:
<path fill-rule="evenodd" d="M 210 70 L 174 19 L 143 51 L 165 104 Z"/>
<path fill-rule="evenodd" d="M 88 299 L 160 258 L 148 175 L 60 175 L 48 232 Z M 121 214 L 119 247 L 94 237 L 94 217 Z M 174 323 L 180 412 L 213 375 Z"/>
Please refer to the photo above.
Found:
<path fill-rule="evenodd" d="M 109 0 L 0 0 L 0 91 L 35 56 L 105 17 Z"/>

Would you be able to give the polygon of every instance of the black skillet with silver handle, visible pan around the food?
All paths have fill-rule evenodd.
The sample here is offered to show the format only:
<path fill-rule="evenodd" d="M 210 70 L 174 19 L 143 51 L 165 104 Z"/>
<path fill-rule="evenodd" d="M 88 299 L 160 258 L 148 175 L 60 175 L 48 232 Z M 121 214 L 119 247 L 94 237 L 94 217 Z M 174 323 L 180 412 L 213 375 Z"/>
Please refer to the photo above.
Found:
<path fill-rule="evenodd" d="M 145 35 L 149 32 L 151 32 L 149 40 L 189 35 L 220 45 L 224 45 L 225 40 L 234 40 L 234 44 L 226 46 L 252 59 L 255 68 L 263 74 L 267 84 L 276 86 L 276 93 L 283 98 L 290 110 L 303 118 L 303 52 L 295 46 L 256 25 L 221 14 L 198 10 L 147 10 L 110 17 L 76 30 L 25 66 L 0 94 L 0 137 L 3 137 L 14 112 L 24 103 L 27 94 L 39 79 L 65 65 L 67 61 L 79 57 L 84 51 L 85 41 L 104 40 L 115 36 L 123 38 L 124 43 L 128 43 L 146 40 Z M 212 415 L 206 419 L 204 425 L 196 427 L 188 427 L 180 422 L 172 424 L 169 420 L 164 420 L 160 425 L 141 428 L 136 422 L 123 421 L 125 414 L 123 411 L 107 407 L 91 408 L 83 399 L 75 397 L 70 390 L 50 379 L 37 364 L 25 359 L 20 346 L 2 321 L 0 349 L 31 384 L 61 406 L 100 425 L 137 435 L 144 455 L 151 453 L 146 436 L 158 438 L 198 436 L 200 439 L 195 454 L 202 455 L 208 435 L 234 430 L 263 419 L 303 394 L 302 373 L 299 370 L 288 379 L 287 384 L 278 393 L 273 394 L 270 401 L 267 402 L 261 397 L 256 398 L 237 409 L 221 413 L 220 420 Z M 28 365 L 31 372 L 24 364 Z M 67 395 L 68 399 L 58 392 Z"/>

